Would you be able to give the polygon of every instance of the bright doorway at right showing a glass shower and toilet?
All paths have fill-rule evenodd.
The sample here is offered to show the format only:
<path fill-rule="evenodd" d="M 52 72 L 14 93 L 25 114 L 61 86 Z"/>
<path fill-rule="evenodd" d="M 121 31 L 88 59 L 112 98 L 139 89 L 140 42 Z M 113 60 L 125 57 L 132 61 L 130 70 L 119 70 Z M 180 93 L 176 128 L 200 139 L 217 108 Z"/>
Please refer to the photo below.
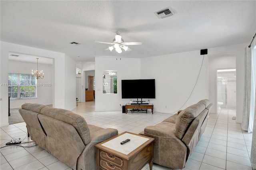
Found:
<path fill-rule="evenodd" d="M 236 110 L 236 69 L 217 69 L 217 110 Z"/>

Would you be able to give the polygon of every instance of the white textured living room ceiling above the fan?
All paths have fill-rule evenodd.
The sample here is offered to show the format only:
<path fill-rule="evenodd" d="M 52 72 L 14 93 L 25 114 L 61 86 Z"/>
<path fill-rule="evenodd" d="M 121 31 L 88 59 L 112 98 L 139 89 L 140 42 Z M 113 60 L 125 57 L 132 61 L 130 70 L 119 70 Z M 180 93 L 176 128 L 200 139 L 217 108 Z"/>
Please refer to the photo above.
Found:
<path fill-rule="evenodd" d="M 150 57 L 250 43 L 256 1 L 5 1 L 1 41 L 66 53 L 76 61 L 94 57 Z M 174 15 L 154 12 L 171 7 Z M 105 51 L 121 31 L 132 51 Z M 71 45 L 79 42 L 80 45 Z M 15 51 L 19 52 L 19 51 Z M 80 56 L 80 57 L 78 57 Z"/>

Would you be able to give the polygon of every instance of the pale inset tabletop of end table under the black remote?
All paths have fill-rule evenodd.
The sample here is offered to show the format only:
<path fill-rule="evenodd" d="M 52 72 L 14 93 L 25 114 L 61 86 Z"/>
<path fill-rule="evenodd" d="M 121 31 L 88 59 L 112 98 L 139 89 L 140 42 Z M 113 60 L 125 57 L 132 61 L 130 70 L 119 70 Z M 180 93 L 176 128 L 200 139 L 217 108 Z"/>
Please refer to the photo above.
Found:
<path fill-rule="evenodd" d="M 120 142 L 130 139 L 129 142 L 126 142 L 124 144 L 120 144 Z M 144 138 L 143 136 L 138 136 L 130 133 L 124 133 L 104 144 L 102 146 L 105 146 L 107 148 L 110 148 L 112 150 L 116 150 L 117 152 L 123 153 L 123 154 L 129 154 L 136 148 L 138 148 L 140 145 L 144 144 L 146 141 L 148 141 L 149 138 Z"/>

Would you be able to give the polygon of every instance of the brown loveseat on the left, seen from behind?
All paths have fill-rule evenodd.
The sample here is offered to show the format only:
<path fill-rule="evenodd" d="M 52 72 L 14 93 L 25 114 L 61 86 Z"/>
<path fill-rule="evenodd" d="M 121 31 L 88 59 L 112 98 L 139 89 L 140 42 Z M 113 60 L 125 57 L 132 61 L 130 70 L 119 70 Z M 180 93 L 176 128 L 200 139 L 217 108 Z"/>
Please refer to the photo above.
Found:
<path fill-rule="evenodd" d="M 73 170 L 96 170 L 95 144 L 117 129 L 88 125 L 72 111 L 25 103 L 19 110 L 31 139 Z"/>

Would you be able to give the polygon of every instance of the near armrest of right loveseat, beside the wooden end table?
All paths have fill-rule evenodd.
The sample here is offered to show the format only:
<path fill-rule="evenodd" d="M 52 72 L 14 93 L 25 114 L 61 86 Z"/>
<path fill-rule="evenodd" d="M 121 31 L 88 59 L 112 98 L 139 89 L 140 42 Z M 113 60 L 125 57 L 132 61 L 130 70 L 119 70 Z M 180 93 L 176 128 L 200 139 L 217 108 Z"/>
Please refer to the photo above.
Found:
<path fill-rule="evenodd" d="M 186 163 L 187 147 L 176 137 L 174 128 L 174 123 L 161 122 L 144 128 L 144 135 L 155 138 L 154 163 L 182 169 Z"/>

